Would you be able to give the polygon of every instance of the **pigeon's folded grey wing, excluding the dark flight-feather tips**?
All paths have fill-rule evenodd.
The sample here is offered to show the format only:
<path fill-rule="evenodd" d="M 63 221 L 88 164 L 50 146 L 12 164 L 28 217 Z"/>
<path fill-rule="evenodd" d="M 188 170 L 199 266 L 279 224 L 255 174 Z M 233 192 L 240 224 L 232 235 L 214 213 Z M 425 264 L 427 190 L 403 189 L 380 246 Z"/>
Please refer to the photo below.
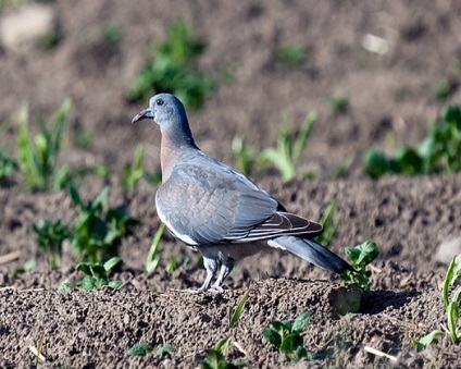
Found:
<path fill-rule="evenodd" d="M 155 202 L 161 220 L 189 245 L 245 238 L 278 206 L 266 192 L 221 163 L 175 167 Z"/>

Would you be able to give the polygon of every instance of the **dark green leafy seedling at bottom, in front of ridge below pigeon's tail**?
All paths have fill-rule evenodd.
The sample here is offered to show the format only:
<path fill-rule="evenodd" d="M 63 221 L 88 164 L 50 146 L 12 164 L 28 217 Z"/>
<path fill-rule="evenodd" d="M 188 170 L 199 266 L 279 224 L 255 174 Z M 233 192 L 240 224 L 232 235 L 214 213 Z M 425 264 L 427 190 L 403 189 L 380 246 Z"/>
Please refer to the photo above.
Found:
<path fill-rule="evenodd" d="M 304 340 L 301 331 L 308 323 L 311 313 L 302 312 L 295 321 L 272 320 L 271 328 L 264 328 L 262 335 L 275 346 L 278 352 L 284 353 L 291 361 L 299 361 L 301 358 L 314 359 L 316 354 L 308 352 L 303 345 Z"/>

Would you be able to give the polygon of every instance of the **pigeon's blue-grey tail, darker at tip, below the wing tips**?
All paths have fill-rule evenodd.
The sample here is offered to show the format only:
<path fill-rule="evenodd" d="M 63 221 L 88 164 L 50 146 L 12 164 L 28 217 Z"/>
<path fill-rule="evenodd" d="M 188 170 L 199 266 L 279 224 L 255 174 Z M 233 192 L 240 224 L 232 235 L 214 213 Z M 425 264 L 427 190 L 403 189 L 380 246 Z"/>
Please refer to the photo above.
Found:
<path fill-rule="evenodd" d="M 272 247 L 290 251 L 306 261 L 338 274 L 345 270 L 354 270 L 339 256 L 313 239 L 297 236 L 279 236 L 270 239 L 267 244 Z"/>

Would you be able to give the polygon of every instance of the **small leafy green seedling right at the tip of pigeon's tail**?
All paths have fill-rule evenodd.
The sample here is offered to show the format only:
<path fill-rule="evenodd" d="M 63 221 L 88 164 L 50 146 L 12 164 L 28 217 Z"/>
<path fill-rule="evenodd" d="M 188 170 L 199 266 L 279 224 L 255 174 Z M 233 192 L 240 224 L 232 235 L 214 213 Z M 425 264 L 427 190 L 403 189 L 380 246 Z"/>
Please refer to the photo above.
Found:
<path fill-rule="evenodd" d="M 369 291 L 372 272 L 366 267 L 379 255 L 376 244 L 369 239 L 361 245 L 346 247 L 345 250 L 356 271 L 345 270 L 339 278 L 342 281 L 356 283 L 363 291 Z"/>

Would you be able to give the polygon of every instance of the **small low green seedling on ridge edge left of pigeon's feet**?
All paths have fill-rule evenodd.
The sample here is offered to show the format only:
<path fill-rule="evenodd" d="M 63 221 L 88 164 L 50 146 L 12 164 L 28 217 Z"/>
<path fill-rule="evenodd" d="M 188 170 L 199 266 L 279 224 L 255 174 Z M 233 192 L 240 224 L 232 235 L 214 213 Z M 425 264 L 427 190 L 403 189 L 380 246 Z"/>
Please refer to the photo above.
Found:
<path fill-rule="evenodd" d="M 65 283 L 60 287 L 60 292 L 65 292 L 79 287 L 85 291 L 90 291 L 96 287 L 102 287 L 104 285 L 111 288 L 119 288 L 122 285 L 122 281 L 110 280 L 110 271 L 122 261 L 121 258 L 114 257 L 105 261 L 100 262 L 80 262 L 77 265 L 76 270 L 83 272 L 85 276 L 76 283 Z"/>

